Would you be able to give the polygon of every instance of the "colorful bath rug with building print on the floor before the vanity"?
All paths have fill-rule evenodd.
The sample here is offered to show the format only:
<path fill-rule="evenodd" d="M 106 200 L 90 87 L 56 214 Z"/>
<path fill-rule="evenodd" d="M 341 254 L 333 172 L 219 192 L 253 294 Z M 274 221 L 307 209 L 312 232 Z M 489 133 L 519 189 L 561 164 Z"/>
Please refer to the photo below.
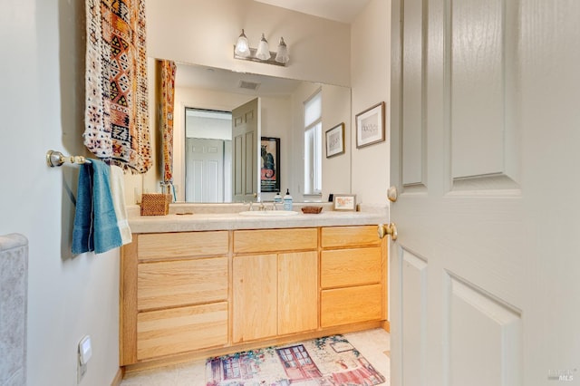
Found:
<path fill-rule="evenodd" d="M 343 335 L 209 358 L 207 386 L 371 386 L 385 381 Z"/>

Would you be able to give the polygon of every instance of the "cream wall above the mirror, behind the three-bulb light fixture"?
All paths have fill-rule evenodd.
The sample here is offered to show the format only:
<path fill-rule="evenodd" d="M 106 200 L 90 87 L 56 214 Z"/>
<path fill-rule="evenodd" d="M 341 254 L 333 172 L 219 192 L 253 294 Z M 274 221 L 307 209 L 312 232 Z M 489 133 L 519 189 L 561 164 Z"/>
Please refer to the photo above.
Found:
<path fill-rule="evenodd" d="M 151 57 L 350 85 L 348 24 L 253 0 L 148 0 L 147 27 Z M 234 59 L 234 43 L 242 28 L 252 47 L 266 34 L 270 51 L 283 36 L 290 53 L 287 67 Z"/>

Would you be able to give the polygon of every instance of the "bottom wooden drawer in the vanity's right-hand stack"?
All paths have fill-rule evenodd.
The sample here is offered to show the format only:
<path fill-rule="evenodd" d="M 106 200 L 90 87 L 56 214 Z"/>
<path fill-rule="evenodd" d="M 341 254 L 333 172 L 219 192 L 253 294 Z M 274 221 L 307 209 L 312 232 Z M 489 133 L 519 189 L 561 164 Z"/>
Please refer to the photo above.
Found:
<path fill-rule="evenodd" d="M 324 290 L 320 302 L 322 327 L 383 319 L 382 285 Z"/>

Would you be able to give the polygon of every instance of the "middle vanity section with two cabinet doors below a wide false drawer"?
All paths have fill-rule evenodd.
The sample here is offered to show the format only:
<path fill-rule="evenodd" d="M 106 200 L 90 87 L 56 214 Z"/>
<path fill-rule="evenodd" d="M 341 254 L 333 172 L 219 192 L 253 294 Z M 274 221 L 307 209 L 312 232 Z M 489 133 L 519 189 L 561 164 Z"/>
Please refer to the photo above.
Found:
<path fill-rule="evenodd" d="M 234 231 L 233 343 L 318 327 L 317 238 L 316 228 Z"/>

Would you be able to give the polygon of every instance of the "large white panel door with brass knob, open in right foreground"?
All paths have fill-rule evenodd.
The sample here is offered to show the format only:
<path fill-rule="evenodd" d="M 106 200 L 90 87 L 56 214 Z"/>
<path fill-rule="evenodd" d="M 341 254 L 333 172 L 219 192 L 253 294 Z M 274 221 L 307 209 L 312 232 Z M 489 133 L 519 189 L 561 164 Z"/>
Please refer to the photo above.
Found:
<path fill-rule="evenodd" d="M 580 1 L 391 4 L 392 385 L 580 384 Z"/>

